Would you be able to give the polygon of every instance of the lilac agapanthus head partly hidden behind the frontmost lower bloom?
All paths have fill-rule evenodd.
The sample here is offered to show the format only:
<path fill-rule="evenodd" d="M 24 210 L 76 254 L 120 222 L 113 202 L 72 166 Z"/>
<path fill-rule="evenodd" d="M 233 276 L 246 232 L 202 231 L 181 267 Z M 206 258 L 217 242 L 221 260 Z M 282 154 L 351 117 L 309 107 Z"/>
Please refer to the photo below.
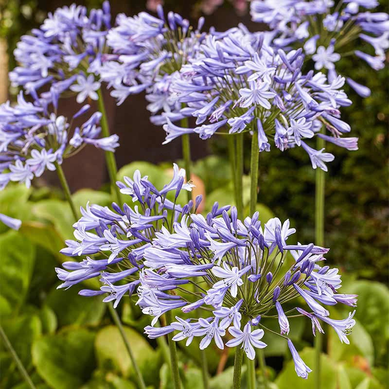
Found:
<path fill-rule="evenodd" d="M 157 190 L 147 176 L 142 177 L 137 170 L 133 178 L 124 177 L 124 182 L 117 182 L 122 194 L 129 196 L 128 204 L 120 207 L 112 203 L 112 208 L 98 204 L 81 207 L 82 217 L 73 225 L 75 240 L 67 240 L 67 247 L 61 252 L 73 259 L 82 257 L 82 260 L 64 262 L 63 268 L 56 268 L 58 278 L 63 281 L 58 288 L 97 278 L 102 283 L 100 290 L 83 289 L 79 294 L 105 295 L 103 301 L 114 301 L 114 307 L 124 296 L 132 296 L 141 283 L 140 277 L 146 276 L 141 273 L 145 249 L 151 248 L 157 235 L 168 233 L 178 217 L 192 210 L 192 200 L 182 207 L 177 204 L 180 191 L 191 191 L 193 187 L 190 182 L 184 183 L 183 177 L 185 170 L 174 165 L 170 183 Z M 172 258 L 172 264 L 174 262 Z M 171 274 L 177 276 L 177 273 Z M 154 283 L 165 279 L 164 275 L 154 276 Z M 159 291 L 144 296 L 149 304 L 147 313 L 157 315 L 173 306 L 184 305 L 180 301 L 166 307 L 159 305 L 158 299 L 167 295 L 172 287 L 166 282 Z"/>

